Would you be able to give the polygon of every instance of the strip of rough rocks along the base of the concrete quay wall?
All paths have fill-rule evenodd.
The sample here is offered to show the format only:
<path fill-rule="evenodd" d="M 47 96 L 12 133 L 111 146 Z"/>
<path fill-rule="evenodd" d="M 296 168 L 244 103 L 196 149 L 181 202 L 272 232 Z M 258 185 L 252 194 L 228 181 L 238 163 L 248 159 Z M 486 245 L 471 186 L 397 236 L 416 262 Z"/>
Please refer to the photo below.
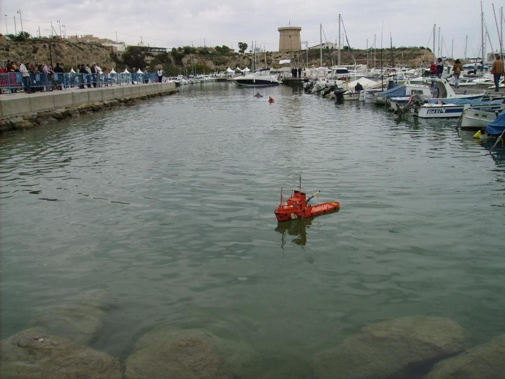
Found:
<path fill-rule="evenodd" d="M 65 119 L 77 118 L 83 114 L 94 113 L 113 109 L 117 107 L 128 107 L 136 103 L 160 96 L 168 96 L 177 93 L 178 89 L 169 89 L 162 92 L 147 93 L 127 96 L 121 99 L 111 99 L 85 103 L 77 106 L 65 107 L 44 112 L 34 112 L 23 115 L 10 116 L 0 120 L 0 133 L 15 130 L 31 129 L 47 124 L 63 121 Z"/>

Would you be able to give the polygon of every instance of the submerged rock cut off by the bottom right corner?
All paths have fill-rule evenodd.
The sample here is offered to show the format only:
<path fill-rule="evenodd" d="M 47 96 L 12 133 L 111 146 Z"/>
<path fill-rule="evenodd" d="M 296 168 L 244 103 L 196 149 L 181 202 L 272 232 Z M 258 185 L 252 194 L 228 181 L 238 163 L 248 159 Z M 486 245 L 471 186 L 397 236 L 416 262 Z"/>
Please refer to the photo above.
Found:
<path fill-rule="evenodd" d="M 503 379 L 505 335 L 433 366 L 425 379 Z"/>

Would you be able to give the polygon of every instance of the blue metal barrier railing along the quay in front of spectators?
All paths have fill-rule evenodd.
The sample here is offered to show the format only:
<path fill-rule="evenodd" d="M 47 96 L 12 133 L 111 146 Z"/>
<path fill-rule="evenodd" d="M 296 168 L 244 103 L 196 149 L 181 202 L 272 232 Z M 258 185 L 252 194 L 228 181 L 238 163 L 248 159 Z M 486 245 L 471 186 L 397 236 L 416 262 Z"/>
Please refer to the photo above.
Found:
<path fill-rule="evenodd" d="M 20 72 L 0 73 L 0 90 L 16 93 L 24 90 L 52 91 L 54 89 L 107 87 L 124 84 L 156 83 L 156 73 L 137 74 L 133 73 L 30 73 L 29 80 L 23 79 Z"/>

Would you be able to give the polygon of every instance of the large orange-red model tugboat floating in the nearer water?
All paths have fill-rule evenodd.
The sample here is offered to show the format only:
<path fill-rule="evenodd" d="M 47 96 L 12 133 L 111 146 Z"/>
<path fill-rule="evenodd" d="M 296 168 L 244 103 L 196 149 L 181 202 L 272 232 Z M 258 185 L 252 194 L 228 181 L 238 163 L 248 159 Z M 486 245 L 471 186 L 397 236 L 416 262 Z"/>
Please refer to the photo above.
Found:
<path fill-rule="evenodd" d="M 330 213 L 340 207 L 340 204 L 336 201 L 330 201 L 328 203 L 322 203 L 314 206 L 309 205 L 309 201 L 318 194 L 319 191 L 307 199 L 305 193 L 301 191 L 293 191 L 293 195 L 284 203 L 281 189 L 281 204 L 274 211 L 277 221 L 288 221 L 297 218 L 320 216 L 325 213 Z"/>

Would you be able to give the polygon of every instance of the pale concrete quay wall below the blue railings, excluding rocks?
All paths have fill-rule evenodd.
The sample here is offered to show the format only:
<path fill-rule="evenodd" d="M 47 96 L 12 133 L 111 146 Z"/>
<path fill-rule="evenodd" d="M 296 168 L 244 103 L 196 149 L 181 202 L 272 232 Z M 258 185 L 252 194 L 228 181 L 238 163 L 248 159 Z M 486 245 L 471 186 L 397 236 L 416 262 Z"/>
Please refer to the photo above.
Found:
<path fill-rule="evenodd" d="M 175 83 L 142 83 L 85 89 L 71 88 L 37 93 L 5 93 L 0 95 L 0 119 L 105 100 L 142 96 L 171 89 L 175 89 Z"/>

